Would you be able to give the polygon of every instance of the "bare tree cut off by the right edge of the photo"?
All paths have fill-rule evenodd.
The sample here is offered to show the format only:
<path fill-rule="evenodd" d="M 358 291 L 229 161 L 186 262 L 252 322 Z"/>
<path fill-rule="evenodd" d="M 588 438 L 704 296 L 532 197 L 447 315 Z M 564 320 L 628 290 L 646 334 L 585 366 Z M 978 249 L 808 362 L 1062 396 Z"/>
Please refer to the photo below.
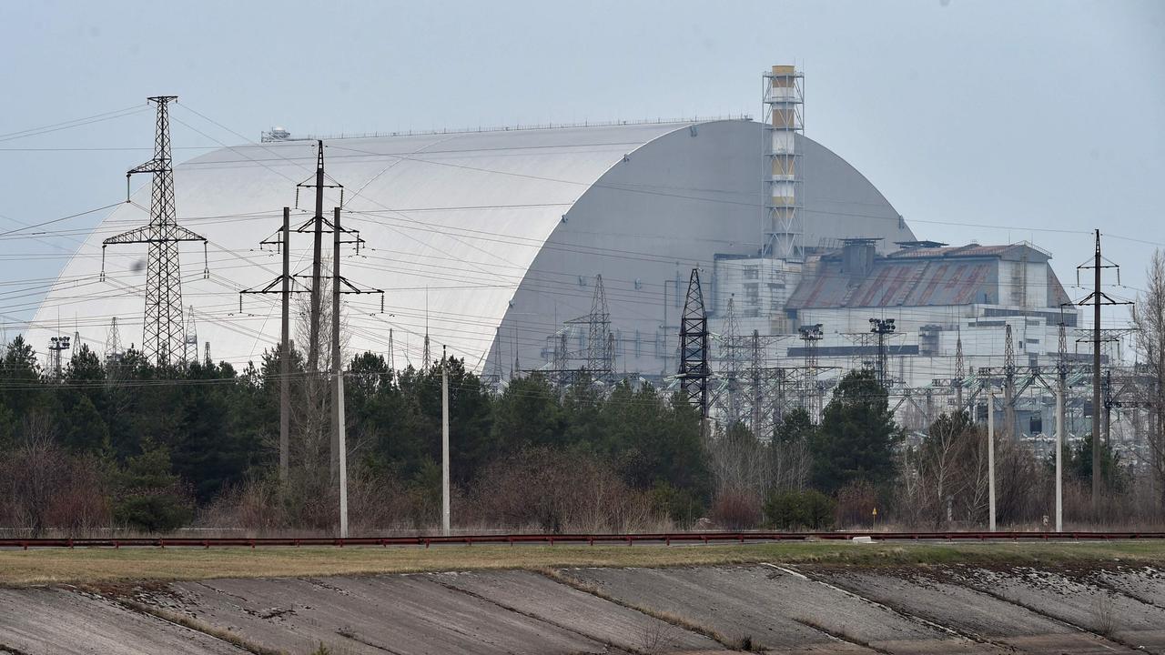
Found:
<path fill-rule="evenodd" d="M 1160 510 L 1165 509 L 1165 254 L 1160 249 L 1153 252 L 1146 277 L 1145 291 L 1137 296 L 1132 321 L 1137 326 L 1137 345 L 1152 378 L 1150 388 L 1145 389 L 1149 396 L 1145 442 Z"/>

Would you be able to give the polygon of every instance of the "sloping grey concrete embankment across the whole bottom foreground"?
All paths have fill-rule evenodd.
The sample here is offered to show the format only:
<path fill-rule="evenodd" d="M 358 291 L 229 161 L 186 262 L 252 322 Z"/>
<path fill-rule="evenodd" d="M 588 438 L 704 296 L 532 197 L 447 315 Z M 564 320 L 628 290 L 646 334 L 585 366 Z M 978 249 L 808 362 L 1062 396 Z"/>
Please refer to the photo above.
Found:
<path fill-rule="evenodd" d="M 1163 653 L 1146 566 L 562 569 L 0 590 L 0 654 Z"/>

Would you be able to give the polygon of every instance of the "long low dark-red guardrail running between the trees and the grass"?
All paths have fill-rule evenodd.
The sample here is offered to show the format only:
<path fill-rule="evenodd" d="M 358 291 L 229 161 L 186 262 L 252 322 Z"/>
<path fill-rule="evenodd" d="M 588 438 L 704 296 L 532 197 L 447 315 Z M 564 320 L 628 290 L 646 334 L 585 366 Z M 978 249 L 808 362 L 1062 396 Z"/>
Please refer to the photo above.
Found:
<path fill-rule="evenodd" d="M 959 533 L 776 533 L 776 531 L 736 531 L 736 533 L 651 533 L 651 534 L 516 534 L 516 535 L 429 535 L 396 537 L 130 537 L 130 538 L 0 538 L 0 548 L 257 548 L 257 547 L 319 547 L 332 545 L 431 545 L 454 544 L 620 544 L 662 543 L 757 543 L 782 541 L 848 541 L 854 537 L 870 537 L 875 541 L 1114 541 L 1114 540 L 1158 540 L 1165 538 L 1165 533 L 1107 533 L 1107 531 L 959 531 Z"/>

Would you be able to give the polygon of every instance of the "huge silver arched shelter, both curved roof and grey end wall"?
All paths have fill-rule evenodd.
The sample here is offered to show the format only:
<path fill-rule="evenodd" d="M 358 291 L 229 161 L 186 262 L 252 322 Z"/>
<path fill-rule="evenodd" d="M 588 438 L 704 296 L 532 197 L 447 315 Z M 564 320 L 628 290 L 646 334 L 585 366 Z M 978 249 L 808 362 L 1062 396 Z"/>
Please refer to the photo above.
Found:
<path fill-rule="evenodd" d="M 562 268 L 553 275 L 577 274 L 582 286 L 582 276 L 596 270 L 606 277 L 602 266 L 610 260 L 622 256 L 626 263 L 629 255 L 617 254 L 624 249 L 638 253 L 630 258 L 637 261 L 658 244 L 670 244 L 665 249 L 676 253 L 652 255 L 669 267 L 671 261 L 677 267 L 680 261 L 711 261 L 715 252 L 751 252 L 755 244 L 749 241 L 758 239 L 760 227 L 760 129 L 749 121 L 661 122 L 325 141 L 327 175 L 344 185 L 344 226 L 360 230 L 366 240 L 359 255 L 345 248 L 343 274 L 386 291 L 383 312 L 379 297 L 346 296 L 348 350 L 386 352 L 391 328 L 395 362 L 419 365 L 428 331 L 435 357 L 445 344 L 451 354 L 481 368 L 504 318 L 522 324 L 528 343 L 520 350 L 529 348 L 523 357 L 531 358 L 541 334 L 573 317 L 560 315 L 558 308 L 579 314 L 572 305 L 588 307 L 589 295 L 579 288 L 578 298 L 542 300 L 537 316 L 530 314 L 529 294 L 562 293 L 558 287 L 546 290 L 545 280 L 531 280 L 539 254 L 542 265 L 534 277 Z M 697 134 L 702 136 L 696 139 Z M 636 155 L 648 143 L 659 147 Z M 864 177 L 816 142 L 804 143 L 806 175 L 816 176 L 806 184 L 806 232 L 814 239 L 863 230 L 891 240 L 913 238 Z M 654 172 L 636 172 L 644 167 Z M 278 275 L 281 258 L 259 242 L 281 226 L 283 206 L 298 207 L 292 210 L 292 226 L 311 217 L 313 191 L 303 189 L 297 196 L 296 184 L 313 182 L 315 168 L 312 141 L 227 147 L 176 168 L 179 223 L 210 241 L 207 279 L 197 246 L 182 245 L 183 301 L 195 308 L 199 344 L 211 341 L 216 360 L 236 365 L 257 360 L 277 341 L 278 296 L 247 295 L 240 308 L 238 293 Z M 680 178 L 683 189 L 668 186 L 669 179 Z M 596 184 L 600 179 L 608 183 Z M 579 212 L 576 203 L 584 195 L 591 200 Z M 99 280 L 101 240 L 148 221 L 148 184 L 133 198 L 134 204 L 106 217 L 62 270 L 29 331 L 34 345 L 56 332 L 58 317 L 62 331 L 71 332 L 76 321 L 83 341 L 99 351 L 113 317 L 123 346 L 140 343 L 146 247 L 108 248 L 107 279 Z M 325 214 L 330 217 L 338 204 L 339 190 L 329 189 Z M 868 207 L 866 216 L 855 217 L 855 204 Z M 685 209 L 692 205 L 699 210 Z M 676 207 L 690 216 L 669 224 L 664 218 L 679 216 L 668 213 Z M 579 220 L 567 226 L 565 214 L 572 209 Z M 633 218 L 620 223 L 622 216 Z M 587 221 L 598 232 L 586 232 Z M 553 234 L 569 245 L 544 248 Z M 652 240 L 652 234 L 666 239 Z M 311 235 L 292 234 L 291 246 L 292 273 L 310 273 Z M 331 251 L 330 239 L 324 249 Z M 621 266 L 612 279 L 620 273 L 629 289 L 638 289 L 635 267 Z M 650 273 L 658 279 L 643 276 L 644 283 L 654 282 L 659 295 L 662 273 L 654 268 Z M 520 287 L 527 289 L 522 298 L 516 296 Z M 640 305 L 643 325 L 636 331 L 661 324 L 655 318 L 663 308 L 659 300 L 647 307 L 630 291 L 622 294 L 628 314 Z M 295 329 L 292 337 L 304 340 Z M 509 355 L 509 361 L 516 357 L 516 352 Z"/>

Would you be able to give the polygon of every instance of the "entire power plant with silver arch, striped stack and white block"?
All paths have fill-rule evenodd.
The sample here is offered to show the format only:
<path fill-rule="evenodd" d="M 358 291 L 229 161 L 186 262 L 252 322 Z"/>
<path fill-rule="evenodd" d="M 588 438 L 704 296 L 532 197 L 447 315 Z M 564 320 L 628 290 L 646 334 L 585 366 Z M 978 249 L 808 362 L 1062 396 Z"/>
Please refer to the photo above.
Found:
<path fill-rule="evenodd" d="M 698 268 L 715 402 L 748 404 L 726 396 L 763 368 L 767 421 L 876 352 L 902 388 L 940 388 L 956 359 L 968 379 L 1003 366 L 1008 326 L 1022 365 L 1054 362 L 1059 324 L 1076 316 L 1050 253 L 919 240 L 866 175 L 804 135 L 802 72 L 772 66 L 762 79 L 761 120 L 325 138 L 324 206 L 341 206 L 362 239 L 346 249 L 345 275 L 384 294 L 345 296 L 347 350 L 419 367 L 426 348 L 446 346 L 497 385 L 584 369 L 669 386 Z M 278 297 L 240 291 L 278 273 L 269 245 L 282 207 L 295 225 L 312 214 L 297 184 L 315 174 L 316 143 L 278 128 L 175 168 L 178 219 L 207 239 L 205 273 L 200 248 L 183 247 L 186 340 L 209 343 L 214 360 L 257 361 L 278 340 Z M 135 191 L 61 272 L 29 331 L 37 347 L 59 331 L 106 351 L 114 318 L 120 347 L 136 340 L 144 248 L 103 253 L 103 240 L 142 223 L 148 198 L 148 186 Z M 310 245 L 292 232 L 297 274 Z M 896 324 L 884 351 L 871 318 Z M 792 400 L 770 397 L 785 392 Z M 760 390 L 749 393 L 756 404 Z"/>

